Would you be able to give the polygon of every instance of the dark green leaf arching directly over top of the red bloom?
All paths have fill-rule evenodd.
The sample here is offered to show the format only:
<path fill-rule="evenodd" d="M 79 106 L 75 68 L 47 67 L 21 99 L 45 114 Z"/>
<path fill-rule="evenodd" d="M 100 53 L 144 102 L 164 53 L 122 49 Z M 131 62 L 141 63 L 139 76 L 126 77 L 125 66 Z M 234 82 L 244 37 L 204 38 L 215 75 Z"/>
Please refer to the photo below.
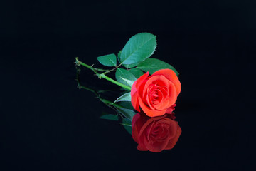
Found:
<path fill-rule="evenodd" d="M 169 65 L 168 63 L 165 63 L 164 61 L 161 61 L 157 58 L 148 58 L 145 61 L 142 61 L 141 63 L 139 63 L 139 65 L 136 67 L 141 69 L 142 71 L 149 71 L 150 74 L 159 71 L 160 69 L 171 69 L 173 70 L 176 75 L 178 76 L 178 71 L 176 71 L 176 69 Z"/>

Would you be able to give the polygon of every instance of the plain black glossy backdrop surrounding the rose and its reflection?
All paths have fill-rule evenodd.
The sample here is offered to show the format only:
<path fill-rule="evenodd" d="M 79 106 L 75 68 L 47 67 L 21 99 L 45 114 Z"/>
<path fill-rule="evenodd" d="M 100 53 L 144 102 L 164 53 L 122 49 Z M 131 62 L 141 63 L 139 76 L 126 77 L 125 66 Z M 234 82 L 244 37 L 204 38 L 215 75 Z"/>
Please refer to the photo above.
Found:
<path fill-rule="evenodd" d="M 256 1 L 1 2 L 0 170 L 254 170 Z M 182 90 L 173 150 L 140 152 L 79 90 L 75 57 L 117 53 L 142 31 Z M 112 87 L 82 69 L 81 81 Z M 114 99 L 117 96 L 109 94 Z"/>

